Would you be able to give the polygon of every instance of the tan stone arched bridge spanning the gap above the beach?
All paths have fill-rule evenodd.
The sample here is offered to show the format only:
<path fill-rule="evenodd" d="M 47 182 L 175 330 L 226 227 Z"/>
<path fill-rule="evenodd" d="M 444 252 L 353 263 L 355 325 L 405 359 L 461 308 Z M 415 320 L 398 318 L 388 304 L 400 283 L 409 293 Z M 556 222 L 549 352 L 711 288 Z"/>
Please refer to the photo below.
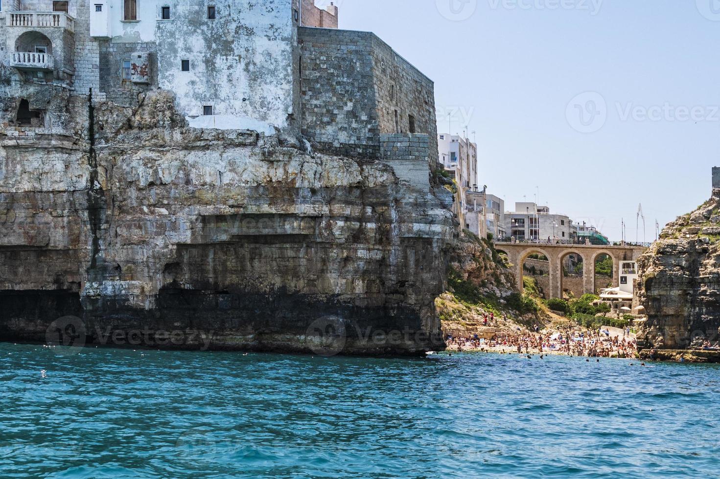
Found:
<path fill-rule="evenodd" d="M 523 291 L 523 263 L 530 255 L 544 255 L 550 263 L 550 297 L 562 298 L 562 262 L 567 255 L 582 257 L 582 284 L 585 293 L 595 293 L 595 260 L 608 255 L 613 260 L 613 288 L 619 286 L 620 263 L 635 261 L 647 246 L 565 245 L 556 242 L 495 242 L 495 249 L 508 255 L 510 269 Z"/>

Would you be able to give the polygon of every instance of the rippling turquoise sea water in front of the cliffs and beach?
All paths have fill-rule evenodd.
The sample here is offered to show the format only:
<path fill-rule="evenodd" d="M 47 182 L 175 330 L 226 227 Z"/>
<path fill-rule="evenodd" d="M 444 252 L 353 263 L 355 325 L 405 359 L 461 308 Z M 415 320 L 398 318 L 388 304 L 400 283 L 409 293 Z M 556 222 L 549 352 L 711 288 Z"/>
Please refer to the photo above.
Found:
<path fill-rule="evenodd" d="M 633 362 L 0 345 L 0 477 L 718 477 L 720 368 Z"/>

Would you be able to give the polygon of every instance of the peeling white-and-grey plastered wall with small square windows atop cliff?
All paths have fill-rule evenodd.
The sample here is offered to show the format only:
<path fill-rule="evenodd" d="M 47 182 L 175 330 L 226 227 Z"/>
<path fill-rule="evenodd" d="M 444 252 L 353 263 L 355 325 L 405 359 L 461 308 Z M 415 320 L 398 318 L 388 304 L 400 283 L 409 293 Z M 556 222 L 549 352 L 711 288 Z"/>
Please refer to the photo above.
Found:
<path fill-rule="evenodd" d="M 191 124 L 203 106 L 213 106 L 217 128 L 248 127 L 249 119 L 289 127 L 297 44 L 291 2 L 215 6 L 217 17 L 207 19 L 205 2 L 176 1 L 171 19 L 157 22 L 159 86 L 176 93 Z M 181 60 L 190 71 L 181 71 Z"/>

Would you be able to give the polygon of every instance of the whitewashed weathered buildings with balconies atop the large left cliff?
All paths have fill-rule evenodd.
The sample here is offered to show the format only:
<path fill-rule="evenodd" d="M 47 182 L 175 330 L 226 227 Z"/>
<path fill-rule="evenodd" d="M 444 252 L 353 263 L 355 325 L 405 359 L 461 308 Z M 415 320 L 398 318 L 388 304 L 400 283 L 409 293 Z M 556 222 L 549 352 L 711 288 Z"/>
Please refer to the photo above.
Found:
<path fill-rule="evenodd" d="M 164 88 L 191 127 L 297 129 L 299 0 L 0 1 L 0 56 L 24 83 L 121 106 Z M 325 27 L 337 13 L 302 3 Z"/>

